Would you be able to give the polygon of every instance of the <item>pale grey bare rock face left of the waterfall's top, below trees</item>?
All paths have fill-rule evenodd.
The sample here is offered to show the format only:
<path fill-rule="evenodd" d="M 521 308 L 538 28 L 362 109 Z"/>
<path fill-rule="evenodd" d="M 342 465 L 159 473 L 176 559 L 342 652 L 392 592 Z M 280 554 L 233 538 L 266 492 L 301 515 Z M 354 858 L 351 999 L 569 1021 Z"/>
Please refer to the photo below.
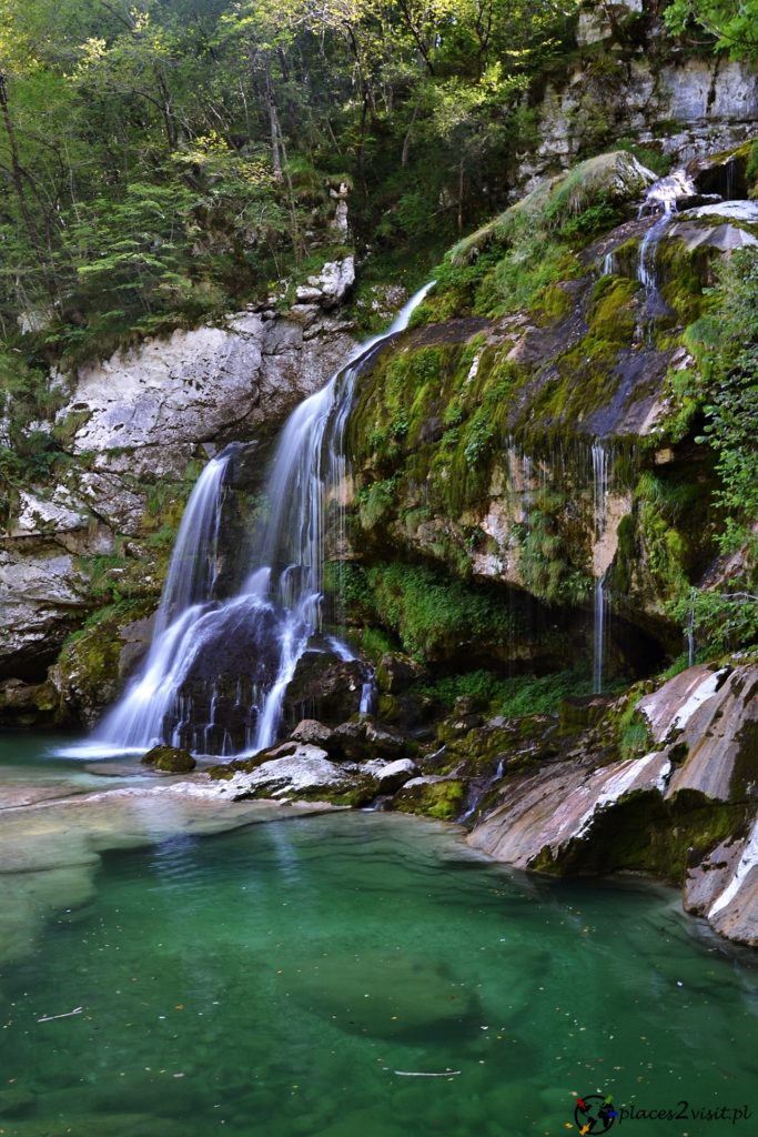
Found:
<path fill-rule="evenodd" d="M 330 293 L 336 304 L 350 273 L 343 265 L 326 267 L 339 277 Z M 325 294 L 318 291 L 316 298 Z M 74 433 L 74 453 L 97 451 L 102 467 L 107 451 L 178 447 L 186 454 L 181 448 L 270 432 L 323 387 L 351 346 L 344 331 L 317 312 L 308 339 L 299 319 L 245 313 L 224 329 L 174 332 L 169 340 L 149 340 L 82 368 L 69 404 L 58 413 L 59 421 L 74 414 L 85 420 Z"/>

